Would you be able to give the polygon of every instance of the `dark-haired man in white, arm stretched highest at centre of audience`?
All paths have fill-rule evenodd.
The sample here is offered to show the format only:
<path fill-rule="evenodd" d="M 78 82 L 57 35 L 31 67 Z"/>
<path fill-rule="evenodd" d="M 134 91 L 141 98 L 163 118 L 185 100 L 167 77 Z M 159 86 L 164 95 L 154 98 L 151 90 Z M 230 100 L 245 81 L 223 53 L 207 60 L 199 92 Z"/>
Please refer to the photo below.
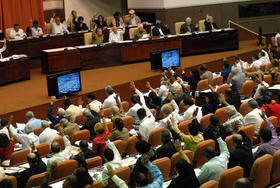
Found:
<path fill-rule="evenodd" d="M 139 132 L 141 135 L 143 135 L 144 140 L 148 141 L 150 133 L 153 129 L 155 129 L 156 120 L 153 114 L 151 113 L 150 109 L 146 106 L 143 93 L 136 88 L 134 82 L 130 82 L 130 87 L 140 97 L 142 108 L 137 111 L 137 115 L 140 120 Z"/>

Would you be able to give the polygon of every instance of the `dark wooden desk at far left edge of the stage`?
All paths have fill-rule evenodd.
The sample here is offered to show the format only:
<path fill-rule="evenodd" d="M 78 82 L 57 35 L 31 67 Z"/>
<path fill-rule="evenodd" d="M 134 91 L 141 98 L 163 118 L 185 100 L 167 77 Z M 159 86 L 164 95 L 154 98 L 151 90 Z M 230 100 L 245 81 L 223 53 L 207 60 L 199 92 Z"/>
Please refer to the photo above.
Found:
<path fill-rule="evenodd" d="M 0 85 L 30 79 L 28 57 L 4 59 L 7 59 L 7 61 L 0 62 Z"/>

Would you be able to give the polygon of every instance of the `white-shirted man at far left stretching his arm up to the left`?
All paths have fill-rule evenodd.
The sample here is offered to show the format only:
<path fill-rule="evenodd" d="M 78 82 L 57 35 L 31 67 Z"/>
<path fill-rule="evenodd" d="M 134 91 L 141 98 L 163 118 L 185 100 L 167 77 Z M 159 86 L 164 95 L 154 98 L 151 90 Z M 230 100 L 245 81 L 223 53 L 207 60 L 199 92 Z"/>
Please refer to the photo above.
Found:
<path fill-rule="evenodd" d="M 39 137 L 34 134 L 34 129 L 31 124 L 27 125 L 25 128 L 25 134 L 19 134 L 17 133 L 17 130 L 13 127 L 11 127 L 11 131 L 14 135 L 14 138 L 22 144 L 22 148 L 28 148 L 32 149 L 31 145 L 34 144 L 34 146 L 40 144 Z"/>

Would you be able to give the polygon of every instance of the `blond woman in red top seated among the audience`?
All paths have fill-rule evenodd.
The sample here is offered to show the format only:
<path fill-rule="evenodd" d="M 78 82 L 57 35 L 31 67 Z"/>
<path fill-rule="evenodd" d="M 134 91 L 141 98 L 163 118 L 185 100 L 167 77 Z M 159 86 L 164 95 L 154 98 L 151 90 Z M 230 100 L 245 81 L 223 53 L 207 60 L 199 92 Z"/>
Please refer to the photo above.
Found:
<path fill-rule="evenodd" d="M 106 146 L 104 136 L 106 134 L 108 135 L 108 139 L 110 139 L 110 132 L 105 123 L 96 123 L 94 126 L 94 132 L 96 133 L 96 137 L 92 141 L 92 149 L 97 151 L 102 157 Z"/>

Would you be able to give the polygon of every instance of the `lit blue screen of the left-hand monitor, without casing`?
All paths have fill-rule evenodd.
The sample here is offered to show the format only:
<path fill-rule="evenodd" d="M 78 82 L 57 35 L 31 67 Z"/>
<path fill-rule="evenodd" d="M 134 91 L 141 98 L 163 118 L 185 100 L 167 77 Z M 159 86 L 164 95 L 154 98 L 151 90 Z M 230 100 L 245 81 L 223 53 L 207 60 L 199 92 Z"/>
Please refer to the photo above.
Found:
<path fill-rule="evenodd" d="M 59 95 L 80 91 L 80 72 L 57 77 L 57 86 Z"/>

